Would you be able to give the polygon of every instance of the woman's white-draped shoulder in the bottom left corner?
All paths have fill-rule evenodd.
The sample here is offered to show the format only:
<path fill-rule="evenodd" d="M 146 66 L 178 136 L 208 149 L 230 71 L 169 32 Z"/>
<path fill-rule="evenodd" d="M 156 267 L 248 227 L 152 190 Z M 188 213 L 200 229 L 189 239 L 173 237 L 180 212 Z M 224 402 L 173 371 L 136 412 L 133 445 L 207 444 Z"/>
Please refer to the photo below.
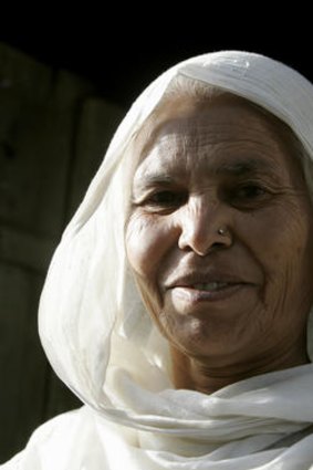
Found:
<path fill-rule="evenodd" d="M 88 445 L 95 446 L 94 437 L 94 420 L 83 406 L 59 415 L 36 428 L 24 450 L 0 466 L 0 469 L 74 469 L 74 460 L 82 457 L 80 450 L 86 449 Z"/>

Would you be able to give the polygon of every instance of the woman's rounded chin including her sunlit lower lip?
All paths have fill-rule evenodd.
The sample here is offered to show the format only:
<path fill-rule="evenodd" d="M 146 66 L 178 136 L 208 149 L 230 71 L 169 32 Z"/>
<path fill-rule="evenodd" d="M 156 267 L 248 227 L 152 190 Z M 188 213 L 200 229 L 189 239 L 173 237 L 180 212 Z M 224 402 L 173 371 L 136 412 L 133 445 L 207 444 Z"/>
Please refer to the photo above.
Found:
<path fill-rule="evenodd" d="M 160 320 L 170 343 L 188 356 L 227 359 L 240 344 L 250 343 L 259 310 L 258 295 L 251 288 L 215 294 L 179 289 L 168 293 Z"/>

